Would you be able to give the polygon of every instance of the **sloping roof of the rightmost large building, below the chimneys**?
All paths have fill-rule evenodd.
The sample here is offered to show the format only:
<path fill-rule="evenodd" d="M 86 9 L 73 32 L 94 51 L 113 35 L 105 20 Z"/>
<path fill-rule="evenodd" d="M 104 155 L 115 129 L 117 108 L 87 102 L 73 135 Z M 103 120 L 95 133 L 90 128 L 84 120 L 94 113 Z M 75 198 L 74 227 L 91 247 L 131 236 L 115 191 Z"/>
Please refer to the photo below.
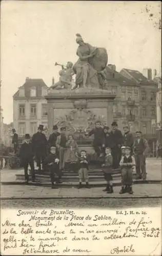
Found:
<path fill-rule="evenodd" d="M 137 83 L 147 83 L 147 84 L 155 84 L 153 80 L 148 80 L 142 73 L 140 73 L 138 70 L 131 70 L 131 69 L 122 69 L 120 74 L 130 77 L 130 79 L 133 79 Z"/>

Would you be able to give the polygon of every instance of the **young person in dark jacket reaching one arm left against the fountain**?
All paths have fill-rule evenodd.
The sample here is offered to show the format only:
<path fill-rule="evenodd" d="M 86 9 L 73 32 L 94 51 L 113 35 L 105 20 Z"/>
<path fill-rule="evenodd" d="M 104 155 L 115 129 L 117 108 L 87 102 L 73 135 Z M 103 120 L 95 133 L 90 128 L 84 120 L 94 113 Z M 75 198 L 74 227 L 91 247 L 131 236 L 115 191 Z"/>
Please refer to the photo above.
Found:
<path fill-rule="evenodd" d="M 97 157 L 99 157 L 103 148 L 105 147 L 105 134 L 103 128 L 101 127 L 100 121 L 95 122 L 95 128 L 92 129 L 87 135 L 94 135 L 93 147 Z"/>

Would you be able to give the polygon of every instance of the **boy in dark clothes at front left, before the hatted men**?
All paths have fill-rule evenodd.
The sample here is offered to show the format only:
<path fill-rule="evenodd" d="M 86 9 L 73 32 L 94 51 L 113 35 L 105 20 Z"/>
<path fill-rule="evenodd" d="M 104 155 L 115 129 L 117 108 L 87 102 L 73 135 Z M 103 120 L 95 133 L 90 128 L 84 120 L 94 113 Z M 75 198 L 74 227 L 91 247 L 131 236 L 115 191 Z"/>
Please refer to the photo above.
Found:
<path fill-rule="evenodd" d="M 50 170 L 50 178 L 51 178 L 51 188 L 56 188 L 54 186 L 54 181 L 55 181 L 55 174 L 60 176 L 60 171 L 59 171 L 59 159 L 57 158 L 56 155 L 56 147 L 52 146 L 50 148 L 50 154 L 46 157 L 45 159 L 45 166 Z"/>

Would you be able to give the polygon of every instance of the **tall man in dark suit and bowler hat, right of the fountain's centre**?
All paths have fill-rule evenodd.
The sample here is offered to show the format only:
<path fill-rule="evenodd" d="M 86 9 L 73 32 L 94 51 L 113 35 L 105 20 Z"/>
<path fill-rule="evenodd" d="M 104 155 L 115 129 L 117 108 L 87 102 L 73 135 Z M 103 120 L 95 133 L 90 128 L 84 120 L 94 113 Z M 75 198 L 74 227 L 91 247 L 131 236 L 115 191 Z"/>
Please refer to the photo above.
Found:
<path fill-rule="evenodd" d="M 112 130 L 110 132 L 110 141 L 111 141 L 111 155 L 113 157 L 113 169 L 119 167 L 119 162 L 122 157 L 121 145 L 123 143 L 123 135 L 120 130 L 117 129 L 117 123 L 112 122 Z"/>

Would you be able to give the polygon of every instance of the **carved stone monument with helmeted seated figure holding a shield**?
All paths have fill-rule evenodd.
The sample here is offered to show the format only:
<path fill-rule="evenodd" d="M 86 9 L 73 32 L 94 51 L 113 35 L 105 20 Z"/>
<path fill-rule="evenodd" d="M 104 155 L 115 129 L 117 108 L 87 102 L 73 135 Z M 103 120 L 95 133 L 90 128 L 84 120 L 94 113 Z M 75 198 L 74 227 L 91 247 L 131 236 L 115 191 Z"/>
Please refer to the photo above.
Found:
<path fill-rule="evenodd" d="M 103 70 L 107 66 L 108 55 L 104 48 L 92 47 L 76 34 L 77 62 L 72 66 L 68 61 L 59 72 L 60 79 L 46 96 L 48 102 L 48 127 L 66 126 L 67 133 L 72 133 L 80 149 L 93 154 L 92 138 L 85 134 L 100 120 L 102 125 L 111 125 L 113 121 L 113 99 L 115 94 L 104 90 Z M 55 65 L 58 65 L 56 62 Z M 72 77 L 75 74 L 75 84 Z"/>

